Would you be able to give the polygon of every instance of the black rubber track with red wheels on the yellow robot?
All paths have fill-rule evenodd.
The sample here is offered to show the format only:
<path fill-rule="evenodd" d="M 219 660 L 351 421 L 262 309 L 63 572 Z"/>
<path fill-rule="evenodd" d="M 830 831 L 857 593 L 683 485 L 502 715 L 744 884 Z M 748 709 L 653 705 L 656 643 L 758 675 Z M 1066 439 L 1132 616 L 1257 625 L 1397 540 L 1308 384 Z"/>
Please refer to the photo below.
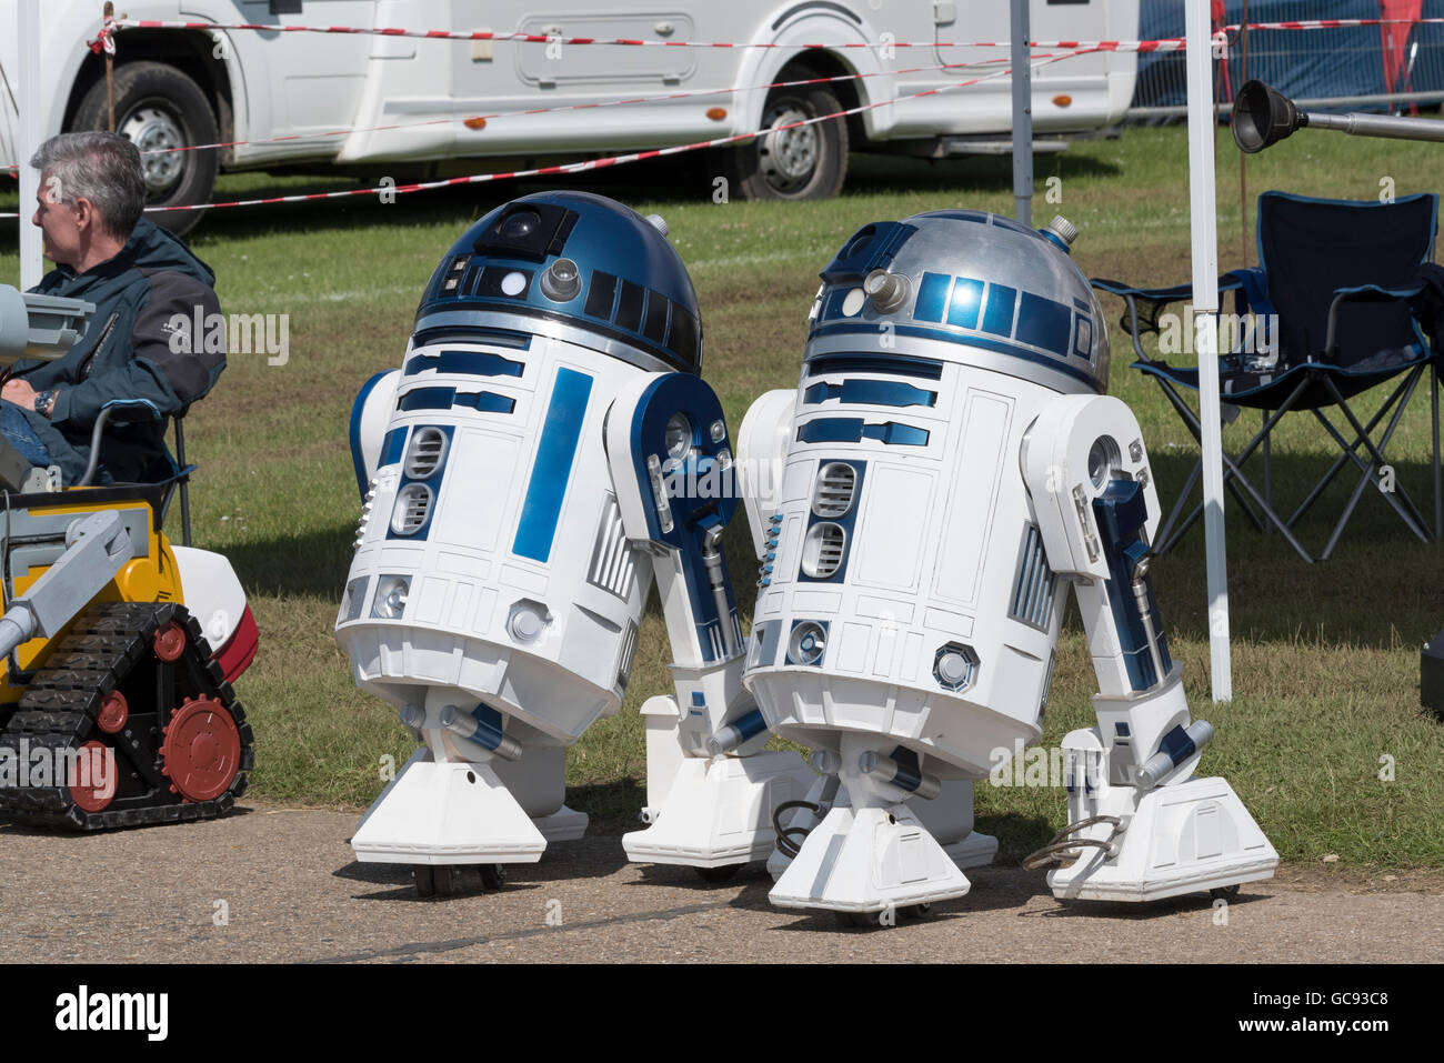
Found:
<path fill-rule="evenodd" d="M 173 602 L 82 612 L 26 676 L 0 750 L 26 767 L 0 777 L 0 820 L 59 830 L 224 816 L 254 763 L 244 709 Z"/>

